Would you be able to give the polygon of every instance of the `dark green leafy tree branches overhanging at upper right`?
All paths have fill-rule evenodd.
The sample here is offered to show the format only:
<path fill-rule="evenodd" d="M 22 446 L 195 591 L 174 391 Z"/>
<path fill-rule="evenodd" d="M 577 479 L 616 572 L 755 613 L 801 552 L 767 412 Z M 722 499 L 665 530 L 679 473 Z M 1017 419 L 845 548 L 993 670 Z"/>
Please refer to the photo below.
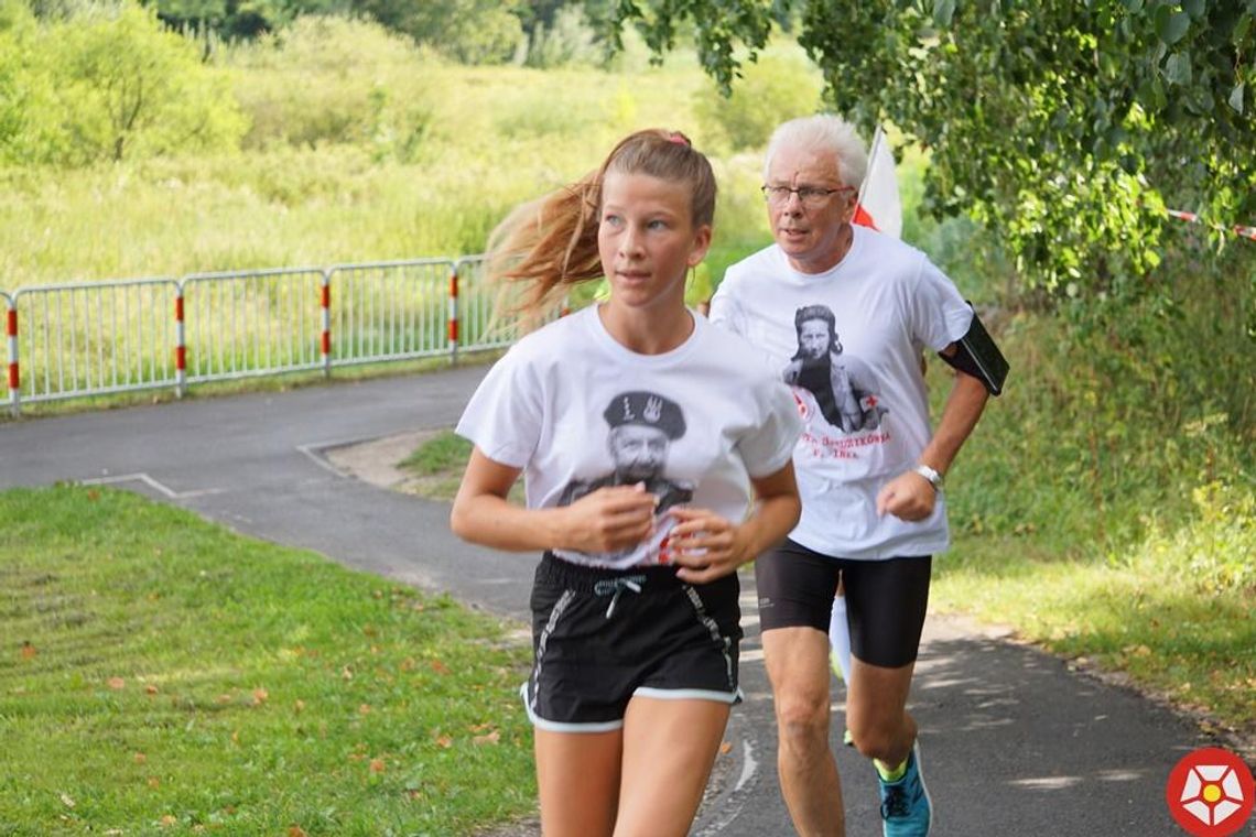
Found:
<path fill-rule="evenodd" d="M 1256 217 L 1256 0 L 623 0 L 612 25 L 664 51 L 692 21 L 727 90 L 790 14 L 828 102 L 927 148 L 927 206 L 1050 290 L 1139 292 L 1164 202 Z"/>

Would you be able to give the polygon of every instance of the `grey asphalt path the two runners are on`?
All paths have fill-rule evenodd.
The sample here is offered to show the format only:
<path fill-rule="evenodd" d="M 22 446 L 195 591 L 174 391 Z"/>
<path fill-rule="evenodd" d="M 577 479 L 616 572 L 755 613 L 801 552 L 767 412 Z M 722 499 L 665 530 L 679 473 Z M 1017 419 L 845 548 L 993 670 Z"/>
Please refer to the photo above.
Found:
<path fill-rule="evenodd" d="M 462 543 L 448 531 L 443 503 L 359 482 L 325 457 L 345 444 L 451 427 L 484 373 L 468 365 L 3 423 L 0 488 L 116 484 L 245 535 L 525 620 L 533 557 Z M 693 828 L 700 836 L 794 833 L 776 779 L 751 590 L 742 604 L 746 700 L 734 710 L 731 747 L 718 757 Z M 872 768 L 838 744 L 836 681 L 833 696 L 848 833 L 879 834 Z M 1181 834 L 1164 798 L 1169 770 L 1192 749 L 1217 745 L 1153 700 L 938 615 L 926 625 L 911 710 L 939 837 Z M 499 833 L 534 831 L 521 823 Z M 1256 822 L 1241 833 L 1256 834 Z"/>

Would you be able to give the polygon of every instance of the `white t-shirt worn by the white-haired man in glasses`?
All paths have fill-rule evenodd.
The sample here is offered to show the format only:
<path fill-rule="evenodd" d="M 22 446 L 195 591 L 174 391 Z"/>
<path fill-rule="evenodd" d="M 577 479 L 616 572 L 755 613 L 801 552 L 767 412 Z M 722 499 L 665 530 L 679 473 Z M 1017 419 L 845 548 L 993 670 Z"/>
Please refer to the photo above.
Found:
<path fill-rule="evenodd" d="M 932 435 L 922 354 L 962 338 L 972 309 L 919 250 L 853 230 L 845 257 L 823 274 L 794 270 L 776 245 L 732 265 L 711 321 L 764 350 L 798 400 L 803 517 L 790 538 L 843 558 L 933 555 L 950 545 L 942 497 L 909 523 L 878 516 L 877 493 Z"/>

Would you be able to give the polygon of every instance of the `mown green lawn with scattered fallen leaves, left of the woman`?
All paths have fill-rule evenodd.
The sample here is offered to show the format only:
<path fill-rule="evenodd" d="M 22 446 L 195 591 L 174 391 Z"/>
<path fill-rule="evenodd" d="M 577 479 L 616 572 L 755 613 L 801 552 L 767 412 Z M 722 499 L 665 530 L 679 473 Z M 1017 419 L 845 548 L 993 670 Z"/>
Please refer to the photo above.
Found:
<path fill-rule="evenodd" d="M 533 808 L 506 625 L 127 492 L 14 489 L 0 520 L 0 834 L 452 834 Z"/>

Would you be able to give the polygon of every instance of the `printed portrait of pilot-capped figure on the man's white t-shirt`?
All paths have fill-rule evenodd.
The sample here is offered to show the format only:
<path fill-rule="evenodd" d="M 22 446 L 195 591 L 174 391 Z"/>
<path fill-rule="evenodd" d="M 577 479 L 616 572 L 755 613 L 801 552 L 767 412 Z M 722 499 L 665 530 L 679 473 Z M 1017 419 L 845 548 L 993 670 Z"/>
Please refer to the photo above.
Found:
<path fill-rule="evenodd" d="M 794 312 L 794 330 L 798 351 L 785 366 L 785 383 L 811 393 L 824 420 L 842 433 L 879 428 L 888 413 L 880 387 L 868 364 L 842 348 L 833 309 L 804 305 Z"/>

